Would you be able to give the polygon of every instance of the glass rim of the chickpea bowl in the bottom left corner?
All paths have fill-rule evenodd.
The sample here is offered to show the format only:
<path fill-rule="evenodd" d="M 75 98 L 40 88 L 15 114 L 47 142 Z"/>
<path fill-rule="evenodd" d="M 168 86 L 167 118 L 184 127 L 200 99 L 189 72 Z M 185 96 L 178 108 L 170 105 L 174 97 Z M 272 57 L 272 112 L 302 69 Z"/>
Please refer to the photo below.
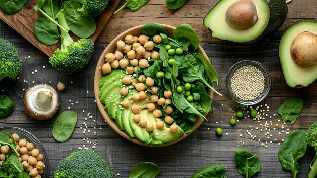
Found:
<path fill-rule="evenodd" d="M 50 161 L 49 161 L 49 158 L 46 154 L 45 148 L 43 147 L 41 141 L 39 141 L 31 132 L 27 131 L 26 129 L 20 128 L 20 127 L 2 126 L 2 127 L 0 127 L 0 131 L 3 131 L 3 132 L 6 132 L 6 131 L 15 132 L 15 131 L 17 131 L 17 132 L 20 132 L 20 133 L 26 135 L 27 137 L 30 137 L 32 139 L 31 140 L 32 143 L 38 147 L 37 149 L 40 149 L 41 154 L 43 155 L 43 159 L 45 160 L 44 161 L 45 168 L 44 168 L 43 173 L 44 173 L 45 177 L 50 177 L 50 169 L 49 169 Z M 19 135 L 19 136 L 21 137 L 21 135 Z M 30 142 L 30 140 L 27 140 L 27 141 Z M 43 174 L 41 174 L 41 177 L 44 177 Z"/>

